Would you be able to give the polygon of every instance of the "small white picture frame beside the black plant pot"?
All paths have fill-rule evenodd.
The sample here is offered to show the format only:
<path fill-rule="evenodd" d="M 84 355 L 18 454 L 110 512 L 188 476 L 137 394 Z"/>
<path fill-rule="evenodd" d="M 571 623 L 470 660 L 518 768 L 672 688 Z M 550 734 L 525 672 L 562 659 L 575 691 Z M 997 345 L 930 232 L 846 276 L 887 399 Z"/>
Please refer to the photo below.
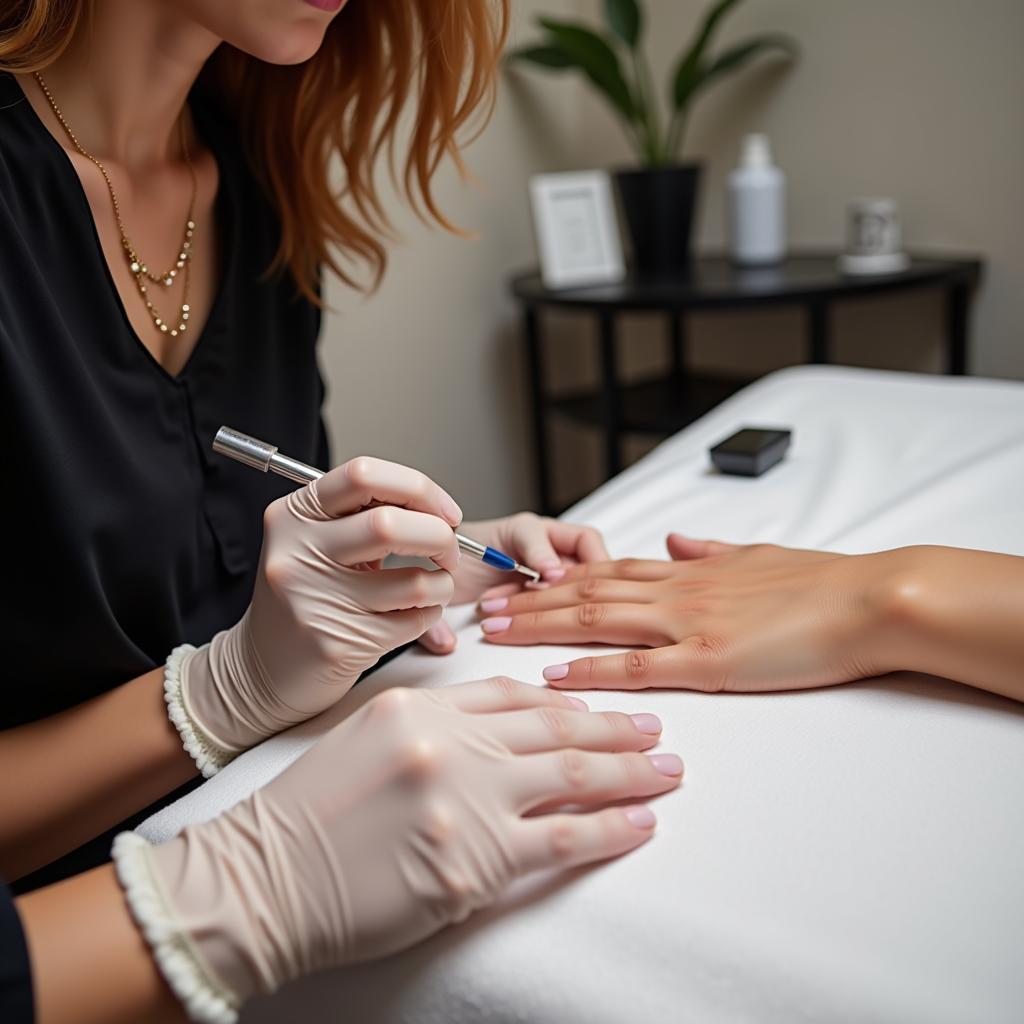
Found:
<path fill-rule="evenodd" d="M 535 174 L 529 199 L 545 287 L 612 284 L 626 276 L 611 179 L 604 171 Z"/>

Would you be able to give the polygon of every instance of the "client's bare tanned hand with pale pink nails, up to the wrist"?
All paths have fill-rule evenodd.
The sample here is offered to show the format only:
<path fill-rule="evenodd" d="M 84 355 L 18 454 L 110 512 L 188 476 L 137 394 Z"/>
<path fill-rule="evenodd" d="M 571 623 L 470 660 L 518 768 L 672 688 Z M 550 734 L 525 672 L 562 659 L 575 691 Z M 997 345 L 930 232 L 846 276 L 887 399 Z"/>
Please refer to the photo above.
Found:
<path fill-rule="evenodd" d="M 500 644 L 653 648 L 545 669 L 553 685 L 581 689 L 790 689 L 895 668 L 865 642 L 880 556 L 678 535 L 669 552 L 675 561 L 581 565 L 546 590 L 489 598 L 483 632 Z"/>

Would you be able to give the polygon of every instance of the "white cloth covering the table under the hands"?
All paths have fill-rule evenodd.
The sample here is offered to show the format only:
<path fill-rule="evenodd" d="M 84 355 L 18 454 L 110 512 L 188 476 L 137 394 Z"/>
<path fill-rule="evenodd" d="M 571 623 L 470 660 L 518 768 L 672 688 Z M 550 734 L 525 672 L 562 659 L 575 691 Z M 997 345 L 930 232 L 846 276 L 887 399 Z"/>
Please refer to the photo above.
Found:
<path fill-rule="evenodd" d="M 707 450 L 788 426 L 785 462 L 720 476 Z M 664 537 L 846 552 L 938 543 L 1024 554 L 1024 385 L 836 368 L 771 375 L 568 515 L 616 556 Z M 265 782 L 393 685 L 541 682 L 568 648 L 488 647 L 471 613 L 450 657 L 411 650 L 345 707 L 243 755 L 140 831 L 166 839 Z M 1022 624 L 1024 626 L 1024 624 Z M 1022 666 L 1024 672 L 1024 666 Z M 1024 708 L 891 676 L 805 692 L 585 693 L 649 711 L 686 780 L 621 860 L 519 885 L 387 961 L 254 1004 L 251 1022 L 1024 1020 Z"/>

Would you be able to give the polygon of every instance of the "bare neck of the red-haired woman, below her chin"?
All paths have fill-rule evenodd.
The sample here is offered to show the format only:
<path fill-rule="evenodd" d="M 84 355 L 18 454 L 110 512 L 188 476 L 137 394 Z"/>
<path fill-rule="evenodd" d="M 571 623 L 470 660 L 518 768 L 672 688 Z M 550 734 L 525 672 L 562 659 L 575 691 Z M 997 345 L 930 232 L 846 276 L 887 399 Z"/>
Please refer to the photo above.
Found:
<path fill-rule="evenodd" d="M 144 174 L 179 156 L 188 90 L 219 43 L 165 0 L 103 0 L 43 74 L 86 150 Z"/>

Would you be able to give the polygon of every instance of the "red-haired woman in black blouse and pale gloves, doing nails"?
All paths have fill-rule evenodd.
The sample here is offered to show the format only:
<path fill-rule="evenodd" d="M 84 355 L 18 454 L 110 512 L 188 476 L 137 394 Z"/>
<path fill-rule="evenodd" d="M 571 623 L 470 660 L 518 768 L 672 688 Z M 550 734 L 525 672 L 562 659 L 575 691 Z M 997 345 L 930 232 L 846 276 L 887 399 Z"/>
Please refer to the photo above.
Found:
<path fill-rule="evenodd" d="M 408 191 L 440 219 L 430 179 L 488 103 L 507 15 L 505 0 L 0 8 L 0 876 L 23 891 L 101 865 L 126 819 L 385 652 L 428 630 L 451 649 L 443 606 L 497 581 L 460 562 L 462 513 L 415 470 L 356 458 L 293 493 L 210 440 L 229 423 L 330 464 L 321 268 L 383 270 L 373 170 L 407 99 Z M 593 530 L 530 515 L 461 528 L 549 581 L 607 557 Z M 437 570 L 382 568 L 391 553 Z M 28 950 L 39 1020 L 230 1020 L 517 873 L 639 845 L 653 816 L 629 800 L 682 771 L 642 753 L 651 716 L 504 680 L 358 714 L 223 818 L 155 849 L 122 837 L 117 878 L 24 896 L 27 945 L 0 889 L 0 998 L 23 991 Z M 567 778 L 592 813 L 556 813 Z M 427 873 L 399 881 L 406 855 L 384 849 Z"/>

